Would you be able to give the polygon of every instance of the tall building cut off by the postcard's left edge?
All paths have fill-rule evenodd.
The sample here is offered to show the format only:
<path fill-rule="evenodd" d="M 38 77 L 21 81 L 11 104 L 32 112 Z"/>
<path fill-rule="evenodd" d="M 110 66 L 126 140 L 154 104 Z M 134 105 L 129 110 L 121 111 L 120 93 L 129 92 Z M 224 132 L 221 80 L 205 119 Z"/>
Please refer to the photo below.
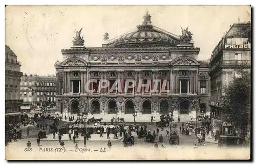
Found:
<path fill-rule="evenodd" d="M 20 122 L 20 105 L 23 100 L 19 98 L 21 63 L 17 61 L 16 54 L 5 46 L 5 121 L 6 123 Z"/>

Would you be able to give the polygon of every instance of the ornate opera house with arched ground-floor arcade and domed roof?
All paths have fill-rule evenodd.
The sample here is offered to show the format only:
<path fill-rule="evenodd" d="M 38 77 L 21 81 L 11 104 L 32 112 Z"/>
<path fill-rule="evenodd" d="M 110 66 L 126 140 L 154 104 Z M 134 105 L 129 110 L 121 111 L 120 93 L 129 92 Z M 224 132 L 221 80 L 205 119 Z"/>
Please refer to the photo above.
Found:
<path fill-rule="evenodd" d="M 198 60 L 200 48 L 194 46 L 193 34 L 188 28 L 180 36 L 157 28 L 148 12 L 143 18 L 136 30 L 117 38 L 110 40 L 105 33 L 102 47 L 84 46 L 81 30 L 76 32 L 73 46 L 61 50 L 63 61 L 55 63 L 57 109 L 68 114 L 113 114 L 117 108 L 122 115 L 173 114 L 176 119 L 196 118 L 200 111 L 209 114 L 208 62 Z M 110 86 L 98 91 L 104 86 L 101 79 Z M 125 91 L 125 85 L 133 84 L 129 79 L 137 83 Z M 148 91 L 139 80 L 150 81 Z"/>

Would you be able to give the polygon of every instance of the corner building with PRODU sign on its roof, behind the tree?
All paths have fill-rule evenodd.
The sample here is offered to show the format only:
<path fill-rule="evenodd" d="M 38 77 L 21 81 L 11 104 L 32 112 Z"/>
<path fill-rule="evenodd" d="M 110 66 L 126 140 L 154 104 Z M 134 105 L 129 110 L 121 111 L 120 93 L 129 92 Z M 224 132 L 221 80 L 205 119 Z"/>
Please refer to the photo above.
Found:
<path fill-rule="evenodd" d="M 251 68 L 251 23 L 234 23 L 212 51 L 210 59 L 211 100 L 209 105 L 213 118 L 220 117 L 223 87 L 238 69 Z"/>

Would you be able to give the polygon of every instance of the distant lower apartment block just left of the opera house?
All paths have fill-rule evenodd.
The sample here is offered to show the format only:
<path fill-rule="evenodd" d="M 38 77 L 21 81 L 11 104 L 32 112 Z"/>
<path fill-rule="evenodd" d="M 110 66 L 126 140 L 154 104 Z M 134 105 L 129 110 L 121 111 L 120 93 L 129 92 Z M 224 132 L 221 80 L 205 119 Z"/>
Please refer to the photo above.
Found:
<path fill-rule="evenodd" d="M 20 81 L 20 99 L 24 106 L 42 107 L 56 103 L 56 76 L 25 74 Z"/>

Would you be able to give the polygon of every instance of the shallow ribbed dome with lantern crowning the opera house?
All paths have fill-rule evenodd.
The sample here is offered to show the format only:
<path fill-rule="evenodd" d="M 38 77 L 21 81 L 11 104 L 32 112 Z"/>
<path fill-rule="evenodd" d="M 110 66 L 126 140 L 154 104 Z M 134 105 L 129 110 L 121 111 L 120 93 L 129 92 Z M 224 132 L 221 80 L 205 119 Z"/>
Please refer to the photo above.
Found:
<path fill-rule="evenodd" d="M 146 12 L 144 21 L 134 32 L 121 35 L 109 42 L 115 47 L 147 47 L 147 46 L 176 46 L 179 37 L 151 25 L 151 15 Z"/>

